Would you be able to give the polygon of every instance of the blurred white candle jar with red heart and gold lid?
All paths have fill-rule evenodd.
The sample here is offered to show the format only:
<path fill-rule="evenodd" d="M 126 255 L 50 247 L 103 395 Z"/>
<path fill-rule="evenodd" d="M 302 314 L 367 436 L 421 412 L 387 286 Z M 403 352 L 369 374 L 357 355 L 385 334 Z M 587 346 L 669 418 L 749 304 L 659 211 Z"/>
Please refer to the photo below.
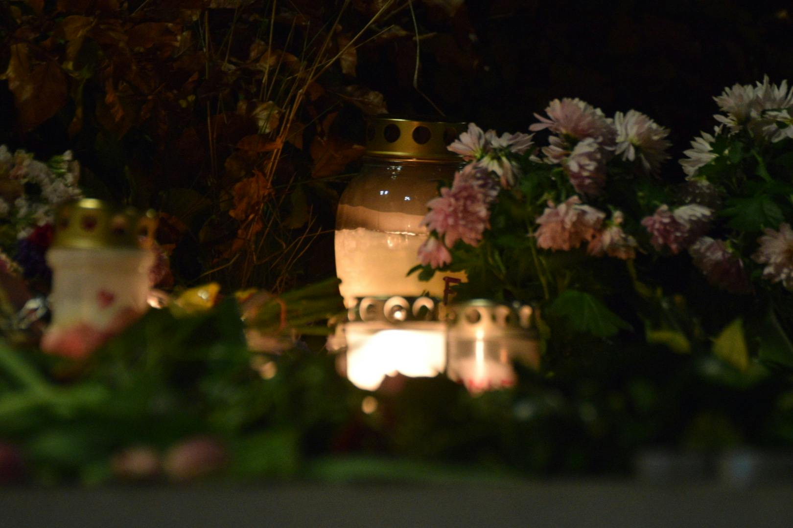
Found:
<path fill-rule="evenodd" d="M 75 328 L 113 332 L 146 310 L 154 230 L 153 211 L 142 214 L 98 199 L 59 209 L 47 253 L 52 323 L 42 348 L 57 348 L 59 337 Z"/>

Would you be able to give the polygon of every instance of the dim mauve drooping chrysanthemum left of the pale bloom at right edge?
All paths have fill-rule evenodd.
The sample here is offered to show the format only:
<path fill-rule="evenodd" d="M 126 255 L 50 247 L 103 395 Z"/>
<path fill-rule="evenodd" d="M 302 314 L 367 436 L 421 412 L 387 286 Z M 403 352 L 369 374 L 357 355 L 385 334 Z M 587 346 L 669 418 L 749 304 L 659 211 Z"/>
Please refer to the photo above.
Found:
<path fill-rule="evenodd" d="M 700 237 L 688 248 L 688 253 L 694 265 L 715 287 L 734 294 L 752 291 L 741 258 L 730 251 L 726 242 Z"/>

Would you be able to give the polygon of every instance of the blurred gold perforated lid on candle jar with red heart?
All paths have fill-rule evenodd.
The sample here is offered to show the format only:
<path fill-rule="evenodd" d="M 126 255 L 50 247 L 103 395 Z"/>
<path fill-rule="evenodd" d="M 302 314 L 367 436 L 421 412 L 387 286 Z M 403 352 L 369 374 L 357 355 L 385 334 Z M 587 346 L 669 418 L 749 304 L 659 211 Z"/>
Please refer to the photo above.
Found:
<path fill-rule="evenodd" d="M 156 227 L 155 211 L 85 198 L 59 207 L 52 247 L 147 248 Z"/>

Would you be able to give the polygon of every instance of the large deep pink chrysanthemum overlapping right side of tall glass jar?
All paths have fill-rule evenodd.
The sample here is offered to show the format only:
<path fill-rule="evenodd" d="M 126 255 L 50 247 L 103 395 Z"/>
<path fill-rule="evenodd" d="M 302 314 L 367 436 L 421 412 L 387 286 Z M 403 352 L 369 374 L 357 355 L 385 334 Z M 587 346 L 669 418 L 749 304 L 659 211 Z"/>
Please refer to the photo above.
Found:
<path fill-rule="evenodd" d="M 451 188 L 442 188 L 441 196 L 427 203 L 431 211 L 421 223 L 437 231 L 448 247 L 458 240 L 477 245 L 489 226 L 489 205 L 494 197 L 482 169 L 466 165 L 455 174 Z"/>

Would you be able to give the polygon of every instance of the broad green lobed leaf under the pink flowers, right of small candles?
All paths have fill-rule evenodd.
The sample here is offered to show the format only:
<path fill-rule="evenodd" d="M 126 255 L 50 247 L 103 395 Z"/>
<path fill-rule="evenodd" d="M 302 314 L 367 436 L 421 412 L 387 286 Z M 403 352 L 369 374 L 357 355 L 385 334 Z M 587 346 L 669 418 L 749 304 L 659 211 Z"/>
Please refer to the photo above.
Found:
<path fill-rule="evenodd" d="M 567 321 L 573 332 L 588 332 L 593 336 L 614 336 L 621 329 L 631 329 L 616 313 L 592 294 L 565 290 L 548 309 L 550 315 Z"/>

